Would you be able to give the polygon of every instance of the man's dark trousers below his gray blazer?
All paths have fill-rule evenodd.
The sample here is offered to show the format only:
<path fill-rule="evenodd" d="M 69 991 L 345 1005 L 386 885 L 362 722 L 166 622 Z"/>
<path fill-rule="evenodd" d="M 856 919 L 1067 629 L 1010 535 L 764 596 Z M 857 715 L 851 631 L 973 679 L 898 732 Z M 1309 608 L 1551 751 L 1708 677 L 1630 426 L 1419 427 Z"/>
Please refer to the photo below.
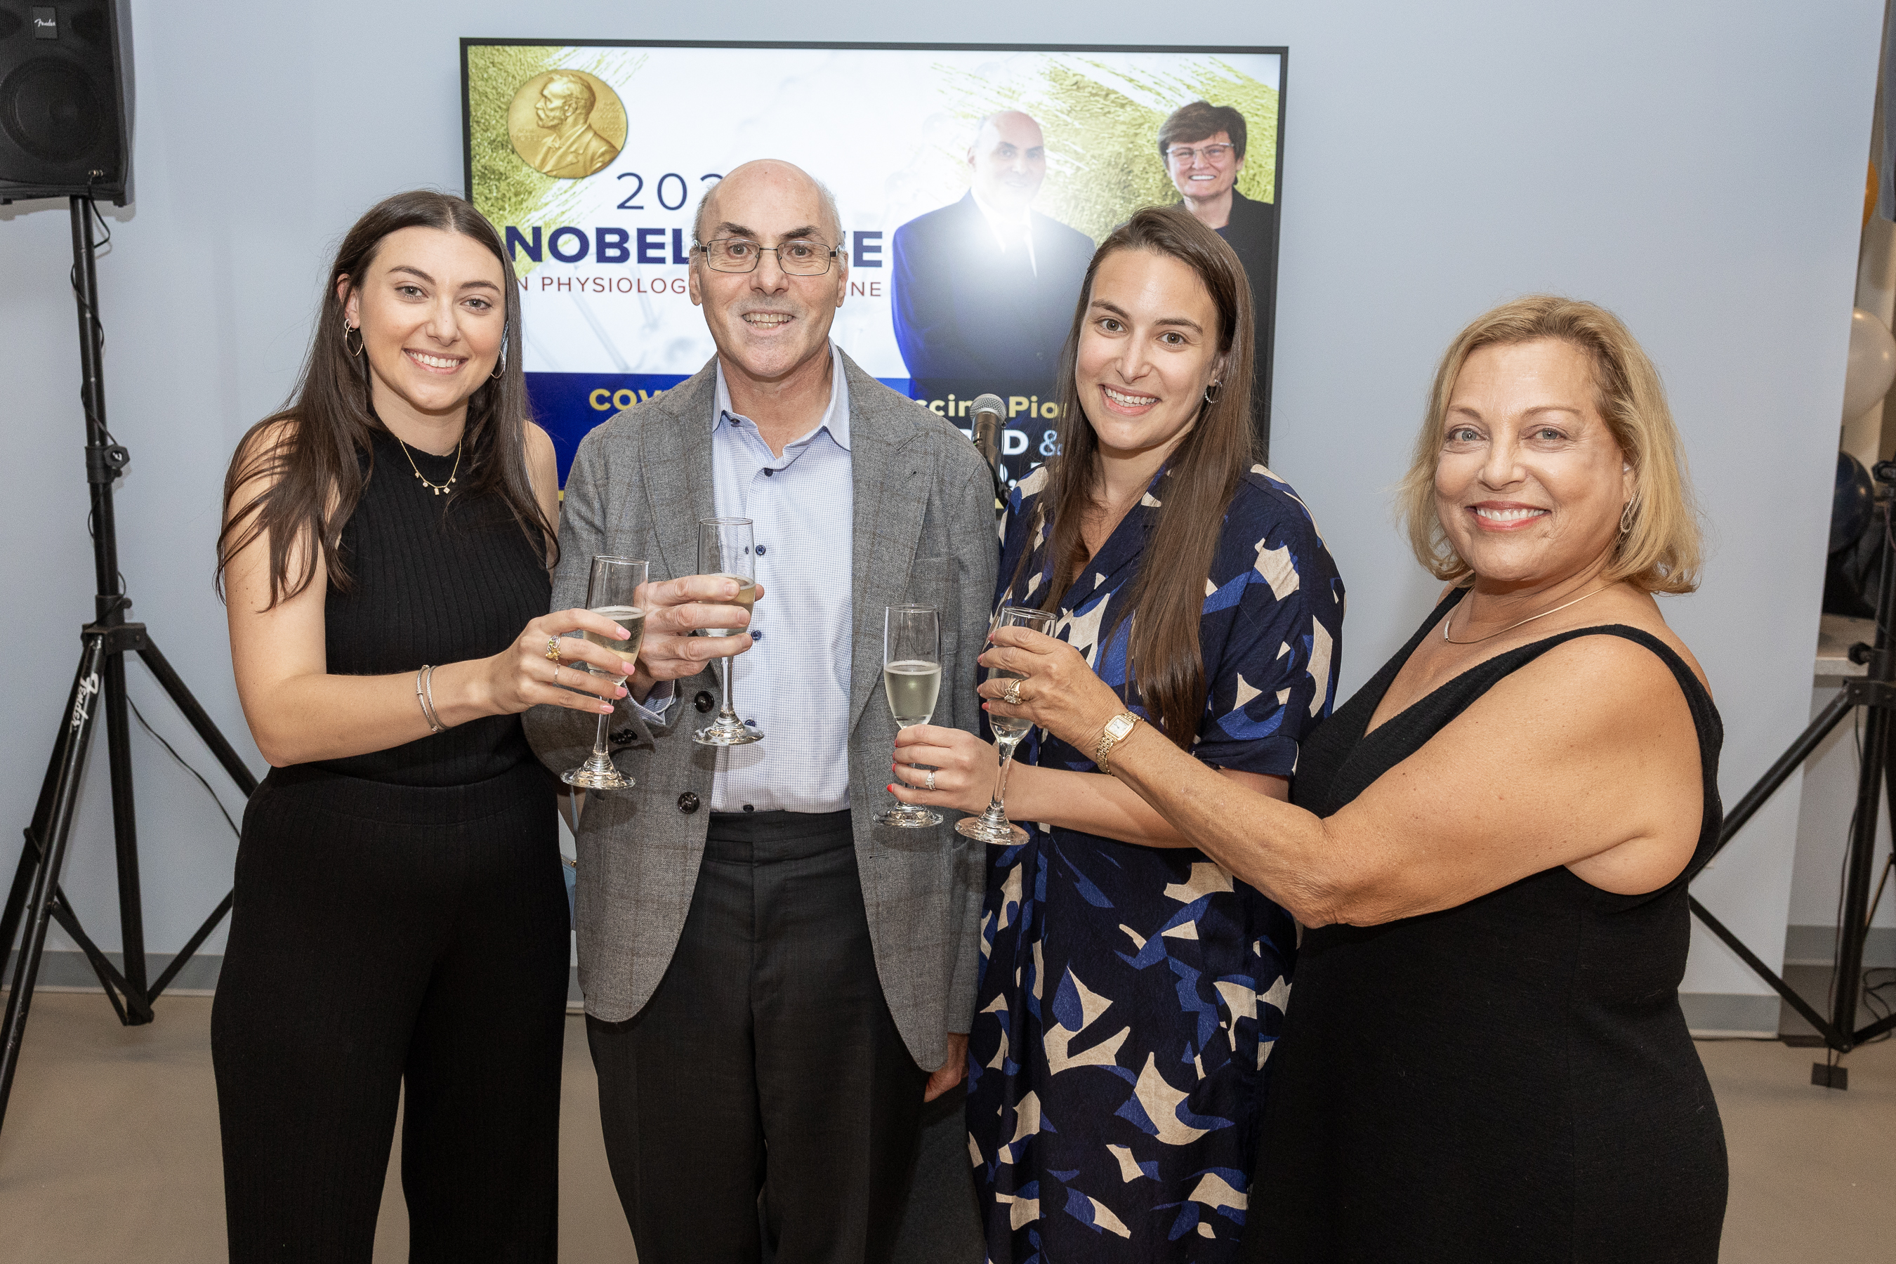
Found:
<path fill-rule="evenodd" d="M 639 1264 L 891 1258 L 927 1073 L 876 978 L 849 813 L 719 813 L 664 982 L 586 1020 Z M 762 1230 L 758 1194 L 762 1192 Z"/>

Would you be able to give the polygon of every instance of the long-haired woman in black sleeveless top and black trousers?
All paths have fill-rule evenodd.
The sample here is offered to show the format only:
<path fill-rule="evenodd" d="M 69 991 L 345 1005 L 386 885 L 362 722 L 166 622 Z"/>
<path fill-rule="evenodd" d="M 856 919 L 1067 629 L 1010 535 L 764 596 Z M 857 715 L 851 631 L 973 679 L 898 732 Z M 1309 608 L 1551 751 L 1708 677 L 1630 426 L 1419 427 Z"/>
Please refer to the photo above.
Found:
<path fill-rule="evenodd" d="M 556 1255 L 567 902 L 520 713 L 609 711 L 559 684 L 620 667 L 559 639 L 611 620 L 546 614 L 557 476 L 514 284 L 466 203 L 372 208 L 226 479 L 231 659 L 273 766 L 210 1021 L 231 1260 L 370 1260 L 404 1086 L 410 1258 Z"/>

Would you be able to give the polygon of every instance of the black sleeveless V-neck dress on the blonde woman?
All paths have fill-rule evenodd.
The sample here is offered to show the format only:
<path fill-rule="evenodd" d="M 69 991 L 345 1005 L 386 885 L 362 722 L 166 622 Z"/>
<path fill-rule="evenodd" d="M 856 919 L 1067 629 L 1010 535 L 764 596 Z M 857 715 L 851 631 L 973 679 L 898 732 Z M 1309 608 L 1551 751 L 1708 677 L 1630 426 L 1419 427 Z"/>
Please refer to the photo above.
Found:
<path fill-rule="evenodd" d="M 1272 1264 L 1714 1264 L 1725 1143 L 1678 1008 L 1686 883 L 1718 840 L 1723 728 L 1650 633 L 1583 627 L 1479 663 L 1363 730 L 1460 593 L 1312 733 L 1293 802 L 1329 817 L 1498 680 L 1576 637 L 1672 669 L 1699 731 L 1705 822 L 1650 894 L 1553 868 L 1458 908 L 1308 930 L 1270 1057 L 1246 1255 Z"/>

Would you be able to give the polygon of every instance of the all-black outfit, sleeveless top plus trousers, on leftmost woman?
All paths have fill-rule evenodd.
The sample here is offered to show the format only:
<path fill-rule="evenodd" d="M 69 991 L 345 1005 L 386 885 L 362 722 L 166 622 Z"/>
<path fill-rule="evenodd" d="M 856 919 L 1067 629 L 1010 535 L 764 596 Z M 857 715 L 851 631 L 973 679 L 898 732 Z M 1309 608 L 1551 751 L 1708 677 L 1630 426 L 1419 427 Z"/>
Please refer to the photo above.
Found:
<path fill-rule="evenodd" d="M 410 453 L 447 481 L 451 457 Z M 332 675 L 411 680 L 546 614 L 544 559 L 502 504 L 430 495 L 385 432 L 364 468 L 353 584 L 324 603 Z M 231 1260 L 368 1264 L 404 1086 L 410 1258 L 556 1256 L 556 811 L 520 716 L 264 779 L 210 1023 Z"/>

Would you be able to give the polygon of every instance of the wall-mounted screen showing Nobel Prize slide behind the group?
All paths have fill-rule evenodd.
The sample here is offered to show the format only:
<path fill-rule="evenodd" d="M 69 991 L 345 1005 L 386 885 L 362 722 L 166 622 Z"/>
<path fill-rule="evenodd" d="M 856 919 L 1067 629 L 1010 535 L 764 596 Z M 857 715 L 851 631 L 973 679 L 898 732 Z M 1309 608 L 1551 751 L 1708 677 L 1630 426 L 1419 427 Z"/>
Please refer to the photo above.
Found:
<path fill-rule="evenodd" d="M 836 193 L 836 343 L 963 430 L 975 396 L 1001 396 L 1009 481 L 1056 449 L 1060 356 L 1094 246 L 1147 205 L 1183 201 L 1244 263 L 1268 424 L 1282 49 L 463 40 L 461 53 L 468 197 L 520 277 L 527 388 L 561 481 L 588 430 L 711 358 L 692 218 L 757 157 Z"/>

